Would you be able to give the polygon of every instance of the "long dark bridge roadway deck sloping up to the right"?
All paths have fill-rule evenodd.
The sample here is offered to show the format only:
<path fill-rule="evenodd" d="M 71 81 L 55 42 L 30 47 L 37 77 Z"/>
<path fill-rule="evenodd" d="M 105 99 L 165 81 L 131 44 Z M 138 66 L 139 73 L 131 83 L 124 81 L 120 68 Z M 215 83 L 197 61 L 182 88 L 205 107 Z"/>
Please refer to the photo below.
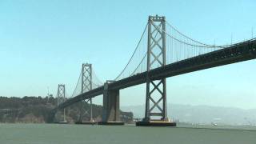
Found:
<path fill-rule="evenodd" d="M 256 39 L 240 42 L 233 46 L 215 50 L 210 53 L 201 54 L 193 58 L 187 58 L 179 62 L 174 62 L 165 67 L 159 67 L 150 70 L 149 75 L 152 80 L 173 77 L 180 74 L 186 74 L 197 70 L 209 69 L 216 66 L 228 65 L 235 62 L 243 62 L 256 58 Z M 121 90 L 130 86 L 136 86 L 146 82 L 146 72 L 134 76 L 123 78 L 109 84 L 110 90 Z M 94 90 L 80 94 L 74 98 L 63 102 L 57 109 L 70 106 L 83 99 L 94 98 L 103 94 L 104 87 L 100 86 Z"/>

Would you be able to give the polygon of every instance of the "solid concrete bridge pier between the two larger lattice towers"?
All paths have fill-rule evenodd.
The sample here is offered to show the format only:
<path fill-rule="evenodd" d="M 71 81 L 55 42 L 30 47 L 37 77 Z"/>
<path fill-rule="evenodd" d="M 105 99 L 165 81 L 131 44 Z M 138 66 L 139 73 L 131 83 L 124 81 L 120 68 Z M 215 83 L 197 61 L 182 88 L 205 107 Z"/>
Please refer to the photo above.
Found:
<path fill-rule="evenodd" d="M 99 125 L 123 125 L 120 122 L 119 90 L 109 90 L 109 83 L 104 84 L 102 122 Z"/>

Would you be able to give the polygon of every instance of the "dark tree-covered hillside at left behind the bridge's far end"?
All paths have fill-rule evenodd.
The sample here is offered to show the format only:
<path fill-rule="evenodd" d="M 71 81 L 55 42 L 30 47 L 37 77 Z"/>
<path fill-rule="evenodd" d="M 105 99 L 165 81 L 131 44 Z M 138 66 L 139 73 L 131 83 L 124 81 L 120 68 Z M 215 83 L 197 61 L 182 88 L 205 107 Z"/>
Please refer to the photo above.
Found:
<path fill-rule="evenodd" d="M 49 119 L 50 110 L 55 106 L 57 106 L 57 99 L 53 97 L 0 97 L 0 122 L 45 123 Z M 89 114 L 85 111 L 88 109 L 89 105 L 86 102 L 78 102 L 67 107 L 66 120 L 68 122 L 88 121 Z M 102 120 L 102 106 L 93 105 L 93 116 L 95 121 Z M 132 122 L 133 114 L 121 112 L 120 118 L 123 122 Z M 63 121 L 63 110 L 58 110 L 54 121 Z"/>

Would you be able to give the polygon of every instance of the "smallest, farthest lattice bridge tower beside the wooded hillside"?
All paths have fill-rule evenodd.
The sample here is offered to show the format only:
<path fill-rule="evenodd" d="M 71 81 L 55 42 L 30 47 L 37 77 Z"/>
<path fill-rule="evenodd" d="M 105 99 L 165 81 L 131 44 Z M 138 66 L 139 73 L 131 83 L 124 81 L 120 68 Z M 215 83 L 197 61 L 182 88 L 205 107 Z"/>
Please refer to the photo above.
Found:
<path fill-rule="evenodd" d="M 66 101 L 66 90 L 64 84 L 58 84 L 58 91 L 57 91 L 57 106 L 62 104 Z M 66 122 L 66 111 L 65 108 L 63 109 L 63 122 Z"/>

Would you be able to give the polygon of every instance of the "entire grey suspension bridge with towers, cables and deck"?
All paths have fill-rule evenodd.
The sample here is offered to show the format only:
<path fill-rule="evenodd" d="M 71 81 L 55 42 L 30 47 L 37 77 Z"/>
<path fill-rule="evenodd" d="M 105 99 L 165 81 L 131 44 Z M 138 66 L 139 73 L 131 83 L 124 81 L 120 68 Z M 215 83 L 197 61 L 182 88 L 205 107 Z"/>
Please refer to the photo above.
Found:
<path fill-rule="evenodd" d="M 254 58 L 255 38 L 225 46 L 209 45 L 182 34 L 165 17 L 149 16 L 134 53 L 113 81 L 101 82 L 92 65 L 83 64 L 71 98 L 63 98 L 63 90 L 58 90 L 58 106 L 53 111 L 84 100 L 91 104 L 92 98 L 103 94 L 100 123 L 117 123 L 119 90 L 146 83 L 145 117 L 136 125 L 175 126 L 175 122 L 167 118 L 166 78 Z M 93 119 L 91 113 L 90 107 L 90 120 Z"/>

